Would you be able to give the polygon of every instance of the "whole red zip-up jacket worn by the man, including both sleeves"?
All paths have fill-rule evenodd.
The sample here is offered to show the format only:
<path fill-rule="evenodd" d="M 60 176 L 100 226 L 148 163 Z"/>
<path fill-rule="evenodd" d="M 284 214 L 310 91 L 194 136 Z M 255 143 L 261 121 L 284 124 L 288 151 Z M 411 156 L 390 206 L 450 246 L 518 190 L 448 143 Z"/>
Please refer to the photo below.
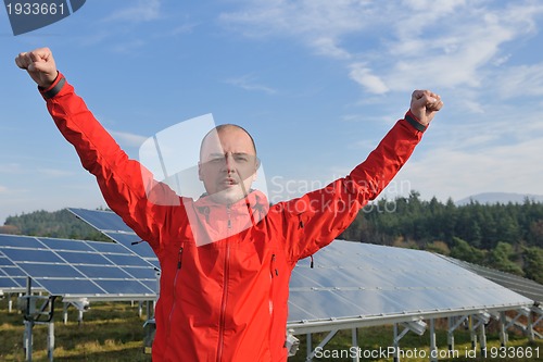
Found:
<path fill-rule="evenodd" d="M 83 166 L 97 177 L 109 207 L 160 260 L 155 362 L 286 361 L 289 278 L 295 263 L 351 224 L 407 161 L 424 130 L 407 113 L 407 121 L 400 120 L 349 176 L 269 210 L 258 191 L 227 209 L 207 198 L 180 198 L 153 180 L 128 159 L 61 74 L 41 92 Z M 149 185 L 152 197 L 146 192 Z M 153 198 L 168 202 L 150 201 Z M 227 227 L 248 210 L 254 214 L 252 227 L 195 246 L 195 233 Z M 189 217 L 199 222 L 200 230 L 192 230 Z"/>

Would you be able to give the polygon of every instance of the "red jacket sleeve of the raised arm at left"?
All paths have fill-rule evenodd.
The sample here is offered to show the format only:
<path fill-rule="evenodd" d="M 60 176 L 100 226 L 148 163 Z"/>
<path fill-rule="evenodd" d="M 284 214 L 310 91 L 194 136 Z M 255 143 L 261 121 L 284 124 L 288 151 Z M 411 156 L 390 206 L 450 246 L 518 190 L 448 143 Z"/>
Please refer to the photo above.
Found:
<path fill-rule="evenodd" d="M 75 147 L 83 166 L 96 176 L 108 205 L 156 251 L 161 234 L 174 217 L 172 211 L 182 208 L 179 197 L 128 158 L 61 73 L 40 92 L 56 127 Z M 179 208 L 166 207 L 172 204 Z"/>

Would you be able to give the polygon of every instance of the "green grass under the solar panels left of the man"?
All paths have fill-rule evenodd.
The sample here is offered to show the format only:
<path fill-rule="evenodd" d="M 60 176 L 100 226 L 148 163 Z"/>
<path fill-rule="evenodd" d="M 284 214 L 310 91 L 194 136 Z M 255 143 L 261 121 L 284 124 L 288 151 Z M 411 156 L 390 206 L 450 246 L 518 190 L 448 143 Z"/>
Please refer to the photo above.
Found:
<path fill-rule="evenodd" d="M 62 304 L 55 308 L 54 361 L 151 361 L 143 353 L 144 315 L 139 317 L 137 303 L 96 302 L 77 322 L 77 311 L 68 309 L 68 323 L 62 321 Z M 0 361 L 25 361 L 23 315 L 8 312 L 0 300 Z M 33 361 L 48 361 L 47 326 L 36 325 Z"/>

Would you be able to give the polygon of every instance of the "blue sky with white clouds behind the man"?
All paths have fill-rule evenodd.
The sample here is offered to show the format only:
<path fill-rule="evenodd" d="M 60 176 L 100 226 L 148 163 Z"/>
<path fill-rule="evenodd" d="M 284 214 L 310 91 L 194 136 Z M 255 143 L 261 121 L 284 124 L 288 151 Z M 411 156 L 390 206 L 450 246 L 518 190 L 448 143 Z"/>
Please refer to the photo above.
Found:
<path fill-rule="evenodd" d="M 89 0 L 16 37 L 2 10 L 0 224 L 105 207 L 14 65 L 45 46 L 135 158 L 202 114 L 248 128 L 273 201 L 349 173 L 425 88 L 445 107 L 386 197 L 543 195 L 542 29 L 535 0 Z"/>

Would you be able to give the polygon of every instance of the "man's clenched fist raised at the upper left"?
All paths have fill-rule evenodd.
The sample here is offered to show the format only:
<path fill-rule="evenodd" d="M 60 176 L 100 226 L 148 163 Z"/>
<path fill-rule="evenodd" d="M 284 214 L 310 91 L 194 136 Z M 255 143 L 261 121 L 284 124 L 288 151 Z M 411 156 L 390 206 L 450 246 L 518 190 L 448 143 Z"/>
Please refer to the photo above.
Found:
<path fill-rule="evenodd" d="M 42 88 L 49 88 L 56 78 L 58 71 L 54 64 L 53 53 L 49 48 L 39 48 L 24 52 L 15 58 L 15 63 Z"/>

